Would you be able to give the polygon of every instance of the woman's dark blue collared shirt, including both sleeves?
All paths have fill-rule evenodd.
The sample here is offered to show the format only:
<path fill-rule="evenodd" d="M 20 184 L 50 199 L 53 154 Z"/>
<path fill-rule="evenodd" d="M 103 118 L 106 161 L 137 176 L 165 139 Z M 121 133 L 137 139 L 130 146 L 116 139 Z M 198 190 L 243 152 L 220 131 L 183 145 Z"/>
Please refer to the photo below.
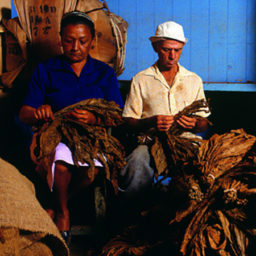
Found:
<path fill-rule="evenodd" d="M 23 104 L 35 109 L 48 104 L 54 113 L 89 98 L 114 101 L 123 108 L 114 70 L 88 55 L 78 77 L 64 55 L 60 55 L 36 67 Z"/>

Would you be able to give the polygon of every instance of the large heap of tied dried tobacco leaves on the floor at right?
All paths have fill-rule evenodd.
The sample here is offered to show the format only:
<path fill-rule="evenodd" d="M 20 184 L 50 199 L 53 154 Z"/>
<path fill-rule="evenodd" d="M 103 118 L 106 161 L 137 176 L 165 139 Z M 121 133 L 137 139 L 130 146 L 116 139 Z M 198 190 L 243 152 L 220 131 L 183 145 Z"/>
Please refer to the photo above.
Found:
<path fill-rule="evenodd" d="M 242 129 L 203 141 L 194 158 L 176 162 L 154 207 L 101 255 L 254 256 L 255 141 Z"/>

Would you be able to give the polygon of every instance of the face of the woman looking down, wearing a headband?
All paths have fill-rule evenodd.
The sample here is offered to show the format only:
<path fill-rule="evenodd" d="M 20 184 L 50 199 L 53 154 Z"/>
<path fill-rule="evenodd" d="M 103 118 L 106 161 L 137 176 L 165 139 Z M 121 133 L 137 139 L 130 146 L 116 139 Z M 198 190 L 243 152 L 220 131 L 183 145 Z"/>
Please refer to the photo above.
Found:
<path fill-rule="evenodd" d="M 69 24 L 63 28 L 61 46 L 71 63 L 86 62 L 93 42 L 90 29 L 84 24 Z"/>

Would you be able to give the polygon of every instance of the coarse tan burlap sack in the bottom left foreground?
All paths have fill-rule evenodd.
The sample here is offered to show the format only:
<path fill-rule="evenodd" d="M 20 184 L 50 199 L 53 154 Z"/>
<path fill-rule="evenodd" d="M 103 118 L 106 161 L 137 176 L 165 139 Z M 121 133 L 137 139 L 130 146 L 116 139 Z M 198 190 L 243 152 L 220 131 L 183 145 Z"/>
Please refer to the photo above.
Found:
<path fill-rule="evenodd" d="M 0 158 L 0 255 L 69 255 L 34 185 Z"/>

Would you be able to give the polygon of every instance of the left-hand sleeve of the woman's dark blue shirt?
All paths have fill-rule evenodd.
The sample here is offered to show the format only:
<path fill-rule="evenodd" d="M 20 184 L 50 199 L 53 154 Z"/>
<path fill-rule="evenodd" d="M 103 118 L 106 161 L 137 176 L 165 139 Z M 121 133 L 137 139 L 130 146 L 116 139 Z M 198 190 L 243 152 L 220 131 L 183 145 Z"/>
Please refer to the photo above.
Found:
<path fill-rule="evenodd" d="M 46 68 L 43 64 L 39 64 L 31 76 L 26 98 L 23 101 L 24 105 L 31 106 L 35 109 L 43 105 L 47 80 L 46 78 Z"/>

